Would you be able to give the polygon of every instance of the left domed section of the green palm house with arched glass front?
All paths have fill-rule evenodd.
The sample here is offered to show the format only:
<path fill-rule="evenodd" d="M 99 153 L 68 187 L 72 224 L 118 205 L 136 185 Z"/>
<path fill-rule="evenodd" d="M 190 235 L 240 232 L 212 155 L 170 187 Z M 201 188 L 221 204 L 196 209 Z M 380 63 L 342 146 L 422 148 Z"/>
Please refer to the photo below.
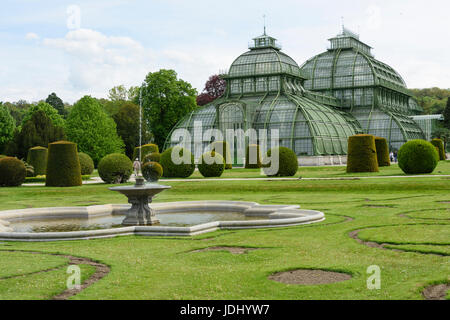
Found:
<path fill-rule="evenodd" d="M 280 51 L 274 38 L 263 34 L 253 40 L 250 51 L 239 56 L 224 75 L 225 94 L 193 111 L 174 129 L 187 129 L 195 136 L 195 121 L 202 122 L 204 131 L 267 129 L 267 143 L 270 130 L 278 129 L 279 144 L 299 156 L 345 155 L 348 137 L 362 132 L 358 121 L 339 109 L 334 97 L 305 90 L 305 74 Z M 176 143 L 168 140 L 165 147 Z M 190 149 L 199 158 L 208 144 L 195 146 L 191 142 Z"/>

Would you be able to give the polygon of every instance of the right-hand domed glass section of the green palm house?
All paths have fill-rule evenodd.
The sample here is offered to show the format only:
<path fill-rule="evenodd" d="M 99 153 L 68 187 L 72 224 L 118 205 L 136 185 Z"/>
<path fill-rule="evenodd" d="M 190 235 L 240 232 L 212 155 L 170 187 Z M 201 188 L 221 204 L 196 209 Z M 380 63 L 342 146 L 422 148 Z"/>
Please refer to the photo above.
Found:
<path fill-rule="evenodd" d="M 335 97 L 364 132 L 386 138 L 391 149 L 399 149 L 411 139 L 425 138 L 411 118 L 422 110 L 402 77 L 376 60 L 371 47 L 345 28 L 330 42 L 328 51 L 302 65 L 308 75 L 305 89 Z"/>

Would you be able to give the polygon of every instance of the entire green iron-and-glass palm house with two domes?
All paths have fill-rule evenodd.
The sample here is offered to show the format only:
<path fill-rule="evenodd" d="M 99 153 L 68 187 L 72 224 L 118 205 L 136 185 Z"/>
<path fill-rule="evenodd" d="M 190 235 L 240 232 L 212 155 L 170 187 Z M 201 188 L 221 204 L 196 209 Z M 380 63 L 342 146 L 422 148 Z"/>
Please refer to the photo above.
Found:
<path fill-rule="evenodd" d="M 400 75 L 346 29 L 330 41 L 330 49 L 299 67 L 264 31 L 222 75 L 227 83 L 222 97 L 182 119 L 165 148 L 187 141 L 198 159 L 212 142 L 194 139 L 199 122 L 203 131 L 266 129 L 267 139 L 257 137 L 262 150 L 271 147 L 270 132 L 277 129 L 279 145 L 294 150 L 300 164 L 313 165 L 345 161 L 348 137 L 358 133 L 384 137 L 392 149 L 424 138 L 410 117 L 420 107 Z M 175 134 L 177 129 L 191 138 Z M 228 142 L 234 164 L 242 164 L 245 152 L 238 150 L 245 145 Z"/>

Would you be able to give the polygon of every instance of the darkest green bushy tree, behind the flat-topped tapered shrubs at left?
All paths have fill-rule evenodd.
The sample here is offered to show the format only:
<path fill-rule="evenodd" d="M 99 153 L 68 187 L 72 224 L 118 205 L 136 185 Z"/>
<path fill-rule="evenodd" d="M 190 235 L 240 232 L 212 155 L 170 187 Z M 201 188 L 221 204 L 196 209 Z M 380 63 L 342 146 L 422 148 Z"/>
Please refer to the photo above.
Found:
<path fill-rule="evenodd" d="M 26 157 L 30 148 L 48 147 L 49 143 L 64 139 L 64 129 L 55 126 L 44 111 L 38 110 L 24 123 L 21 130 L 15 131 L 13 140 L 6 147 L 6 153 L 21 159 Z"/>

